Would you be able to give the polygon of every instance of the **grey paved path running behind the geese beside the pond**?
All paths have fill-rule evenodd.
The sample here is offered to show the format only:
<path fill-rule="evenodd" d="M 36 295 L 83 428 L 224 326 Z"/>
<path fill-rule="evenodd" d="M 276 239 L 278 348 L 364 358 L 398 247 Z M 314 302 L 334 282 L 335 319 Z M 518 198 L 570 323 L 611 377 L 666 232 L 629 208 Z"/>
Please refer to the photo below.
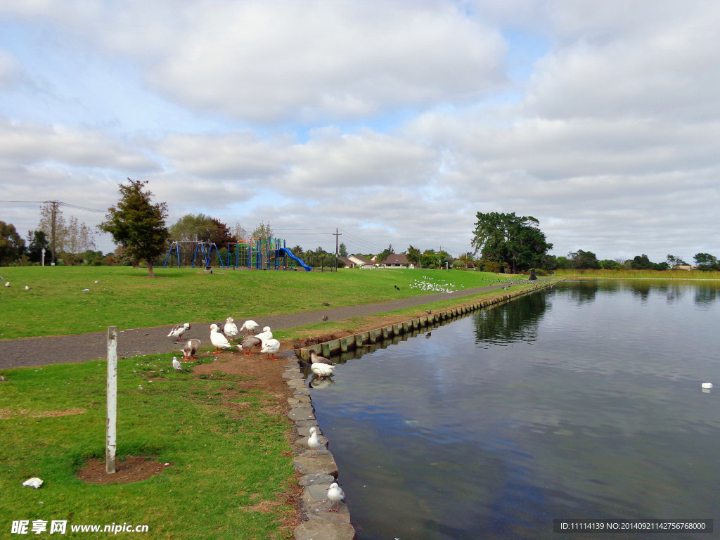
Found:
<path fill-rule="evenodd" d="M 366 304 L 346 307 L 328 307 L 323 310 L 290 315 L 269 315 L 254 318 L 260 327 L 269 326 L 273 330 L 284 330 L 323 322 L 328 320 L 346 320 L 353 317 L 377 315 L 388 311 L 401 310 L 431 302 L 449 300 L 477 294 L 479 292 L 500 289 L 503 284 L 463 289 L 453 293 L 438 292 L 403 300 L 392 300 L 378 304 Z M 210 345 L 210 323 L 193 324 L 183 336 L 185 339 L 199 338 L 203 345 Z M 238 324 L 238 326 L 240 326 Z M 144 354 L 161 354 L 173 350 L 180 356 L 181 343 L 168 338 L 171 325 L 153 328 L 132 328 L 117 333 L 118 357 Z M 74 336 L 44 336 L 40 338 L 0 340 L 0 369 L 18 366 L 44 366 L 47 364 L 66 364 L 68 362 L 89 361 L 107 358 L 107 330 L 104 332 L 77 334 Z"/>

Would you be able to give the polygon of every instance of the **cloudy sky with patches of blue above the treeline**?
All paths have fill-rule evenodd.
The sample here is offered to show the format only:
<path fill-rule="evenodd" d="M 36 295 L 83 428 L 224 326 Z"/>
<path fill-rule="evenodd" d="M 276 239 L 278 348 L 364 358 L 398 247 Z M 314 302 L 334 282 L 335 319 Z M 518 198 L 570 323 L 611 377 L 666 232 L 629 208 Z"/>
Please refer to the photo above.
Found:
<path fill-rule="evenodd" d="M 720 3 L 2 0 L 0 220 L 127 177 L 289 246 L 720 256 Z M 29 201 L 27 203 L 8 201 Z M 112 251 L 109 235 L 98 248 Z"/>

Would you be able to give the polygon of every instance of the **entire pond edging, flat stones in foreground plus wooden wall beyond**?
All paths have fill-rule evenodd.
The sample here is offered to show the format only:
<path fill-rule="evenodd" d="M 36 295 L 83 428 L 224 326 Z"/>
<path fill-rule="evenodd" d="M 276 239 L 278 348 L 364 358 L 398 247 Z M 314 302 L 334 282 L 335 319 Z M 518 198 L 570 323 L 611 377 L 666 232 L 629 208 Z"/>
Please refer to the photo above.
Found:
<path fill-rule="evenodd" d="M 285 372 L 282 376 L 287 379 L 287 384 L 293 392 L 292 397 L 287 400 L 290 405 L 287 414 L 294 423 L 294 431 L 297 434 L 297 439 L 293 445 L 295 457 L 292 464 L 295 470 L 302 474 L 299 480 L 302 486 L 300 516 L 305 520 L 295 528 L 295 540 L 357 540 L 357 534 L 350 523 L 350 512 L 345 502 L 341 501 L 338 512 L 328 511 L 330 501 L 327 499 L 327 490 L 330 484 L 338 478 L 338 465 L 333 458 L 333 454 L 327 448 L 328 439 L 323 436 L 320 426 L 318 426 L 318 420 L 315 418 L 315 408 L 312 407 L 310 390 L 305 384 L 305 374 L 300 370 L 299 358 L 307 360 L 311 349 L 322 356 L 330 356 L 337 351 L 346 352 L 348 348 L 359 348 L 364 343 L 376 343 L 376 341 L 387 340 L 393 336 L 397 337 L 402 333 L 409 333 L 428 325 L 432 326 L 443 320 L 480 310 L 483 307 L 497 305 L 514 297 L 535 292 L 539 288 L 551 287 L 556 283 L 555 281 L 540 282 L 529 289 L 521 289 L 463 307 L 430 313 L 425 317 L 377 328 L 376 330 L 369 330 L 369 332 L 355 334 L 354 336 L 318 343 L 317 345 L 297 349 L 294 354 L 288 354 L 286 356 L 288 362 L 285 364 Z M 317 458 L 310 457 L 310 449 L 307 446 L 310 428 L 313 426 L 317 428 L 320 440 L 325 443 L 320 449 Z"/>

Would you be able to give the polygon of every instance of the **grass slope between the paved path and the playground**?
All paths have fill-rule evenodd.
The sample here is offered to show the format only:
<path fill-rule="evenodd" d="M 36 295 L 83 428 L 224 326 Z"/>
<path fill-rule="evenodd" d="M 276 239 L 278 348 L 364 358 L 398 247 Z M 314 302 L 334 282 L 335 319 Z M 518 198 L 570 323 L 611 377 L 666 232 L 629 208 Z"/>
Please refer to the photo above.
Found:
<path fill-rule="evenodd" d="M 223 273 L 224 272 L 224 273 Z M 25 266 L 1 269 L 11 287 L 0 287 L 0 339 L 177 323 L 209 323 L 360 305 L 428 294 L 412 279 L 447 279 L 456 289 L 482 287 L 498 276 L 474 271 L 408 269 L 338 272 L 233 271 L 129 266 Z M 95 281 L 99 283 L 95 283 Z M 24 286 L 30 290 L 24 290 Z M 397 291 L 394 285 L 400 287 Z M 82 292 L 90 289 L 90 292 Z"/>

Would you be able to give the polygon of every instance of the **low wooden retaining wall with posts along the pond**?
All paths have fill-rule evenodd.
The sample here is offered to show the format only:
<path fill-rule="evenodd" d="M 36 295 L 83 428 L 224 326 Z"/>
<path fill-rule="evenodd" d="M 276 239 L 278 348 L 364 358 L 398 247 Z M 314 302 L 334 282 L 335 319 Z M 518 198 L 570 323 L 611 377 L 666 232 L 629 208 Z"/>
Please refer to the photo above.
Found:
<path fill-rule="evenodd" d="M 530 294 L 537 292 L 540 289 L 546 287 L 552 287 L 557 284 L 557 281 L 552 282 L 538 282 L 535 287 L 528 287 L 527 289 L 521 289 L 518 291 L 508 292 L 502 296 L 490 298 L 487 300 L 480 300 L 469 305 L 462 307 L 452 307 L 448 310 L 433 312 L 423 317 L 415 319 L 405 320 L 402 323 L 395 323 L 382 328 L 375 328 L 374 330 L 368 330 L 367 332 L 361 332 L 354 334 L 353 336 L 346 336 L 344 338 L 333 339 L 332 341 L 325 341 L 324 343 L 316 343 L 303 348 L 295 349 L 295 354 L 302 360 L 310 359 L 310 351 L 315 351 L 320 356 L 329 358 L 330 356 L 340 354 L 353 353 L 354 351 L 360 351 L 361 348 L 384 348 L 387 346 L 387 342 L 392 341 L 397 343 L 401 338 L 407 339 L 408 337 L 417 336 L 423 330 L 428 328 L 436 328 L 437 326 L 462 317 L 473 311 L 482 310 L 485 307 L 492 307 L 509 300 L 513 300 L 516 297 L 523 296 L 524 294 Z M 350 355 L 348 355 L 350 356 Z M 351 356 L 356 356 L 352 354 Z"/>

